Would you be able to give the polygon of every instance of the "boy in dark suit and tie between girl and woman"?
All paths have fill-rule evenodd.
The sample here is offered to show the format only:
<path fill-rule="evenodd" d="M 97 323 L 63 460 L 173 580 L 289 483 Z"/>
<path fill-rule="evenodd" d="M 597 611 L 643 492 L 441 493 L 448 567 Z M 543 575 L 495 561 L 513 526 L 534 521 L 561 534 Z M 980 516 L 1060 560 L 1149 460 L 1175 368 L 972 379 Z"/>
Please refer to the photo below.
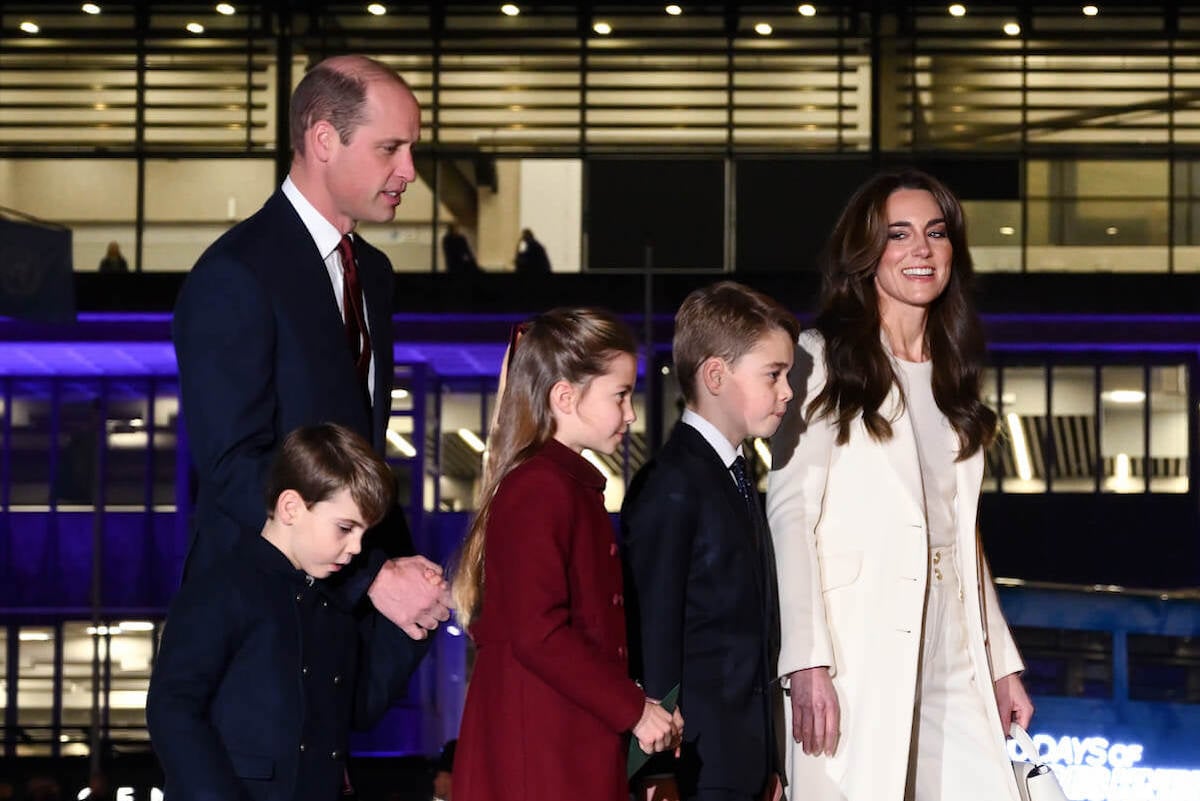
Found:
<path fill-rule="evenodd" d="M 630 642 L 640 645 L 631 664 L 650 698 L 678 683 L 688 719 L 678 759 L 659 757 L 643 772 L 667 797 L 760 799 L 781 772 L 774 553 L 742 444 L 779 427 L 798 333 L 787 309 L 733 282 L 694 291 L 676 314 L 686 409 L 620 513 Z"/>

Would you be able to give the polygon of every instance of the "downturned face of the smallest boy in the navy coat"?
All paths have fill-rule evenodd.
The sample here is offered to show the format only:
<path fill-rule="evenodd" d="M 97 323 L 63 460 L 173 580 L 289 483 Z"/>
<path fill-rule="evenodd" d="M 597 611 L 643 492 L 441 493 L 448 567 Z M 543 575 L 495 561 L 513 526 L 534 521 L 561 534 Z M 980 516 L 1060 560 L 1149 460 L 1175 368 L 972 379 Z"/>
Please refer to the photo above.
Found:
<path fill-rule="evenodd" d="M 326 578 L 350 564 L 362 550 L 366 524 L 349 489 L 329 500 L 305 506 L 293 489 L 280 493 L 271 523 L 277 536 L 268 536 L 294 567 L 313 578 Z"/>

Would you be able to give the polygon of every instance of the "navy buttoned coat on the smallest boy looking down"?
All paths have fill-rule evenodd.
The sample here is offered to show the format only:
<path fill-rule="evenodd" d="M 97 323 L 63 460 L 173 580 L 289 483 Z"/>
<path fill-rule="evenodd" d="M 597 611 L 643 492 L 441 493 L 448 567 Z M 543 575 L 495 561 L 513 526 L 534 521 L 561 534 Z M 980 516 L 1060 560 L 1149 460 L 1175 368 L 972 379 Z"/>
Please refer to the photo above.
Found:
<path fill-rule="evenodd" d="M 418 658 L 370 606 L 240 541 L 170 606 L 146 701 L 166 797 L 332 801 L 350 728 L 403 697 Z"/>

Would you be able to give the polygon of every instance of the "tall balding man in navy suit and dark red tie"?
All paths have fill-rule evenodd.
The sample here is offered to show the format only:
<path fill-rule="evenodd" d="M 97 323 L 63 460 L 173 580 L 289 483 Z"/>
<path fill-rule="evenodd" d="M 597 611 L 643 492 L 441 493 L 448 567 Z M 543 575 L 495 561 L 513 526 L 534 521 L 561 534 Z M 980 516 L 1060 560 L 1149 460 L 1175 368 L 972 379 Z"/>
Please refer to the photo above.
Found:
<path fill-rule="evenodd" d="M 185 583 L 258 535 L 268 465 L 288 432 L 336 422 L 384 453 L 391 265 L 352 231 L 359 221 L 395 217 L 416 179 L 419 135 L 416 98 L 385 65 L 364 56 L 318 64 L 292 98 L 288 179 L 184 283 L 173 332 L 199 478 Z M 336 585 L 352 602 L 368 594 L 418 640 L 449 616 L 449 596 L 438 565 L 386 558 L 407 538 L 395 508 Z"/>

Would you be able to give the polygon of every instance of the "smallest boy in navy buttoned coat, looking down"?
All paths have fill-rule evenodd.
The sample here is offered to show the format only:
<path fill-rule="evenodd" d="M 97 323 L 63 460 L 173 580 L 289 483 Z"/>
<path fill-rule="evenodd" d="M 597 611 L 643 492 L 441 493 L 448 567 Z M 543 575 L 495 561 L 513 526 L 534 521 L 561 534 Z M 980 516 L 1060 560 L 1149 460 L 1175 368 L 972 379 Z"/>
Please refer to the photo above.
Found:
<path fill-rule="evenodd" d="M 166 797 L 334 801 L 347 737 L 402 698 L 407 634 L 322 579 L 392 504 L 388 465 L 334 424 L 287 436 L 260 537 L 191 577 L 170 604 L 146 721 Z"/>

